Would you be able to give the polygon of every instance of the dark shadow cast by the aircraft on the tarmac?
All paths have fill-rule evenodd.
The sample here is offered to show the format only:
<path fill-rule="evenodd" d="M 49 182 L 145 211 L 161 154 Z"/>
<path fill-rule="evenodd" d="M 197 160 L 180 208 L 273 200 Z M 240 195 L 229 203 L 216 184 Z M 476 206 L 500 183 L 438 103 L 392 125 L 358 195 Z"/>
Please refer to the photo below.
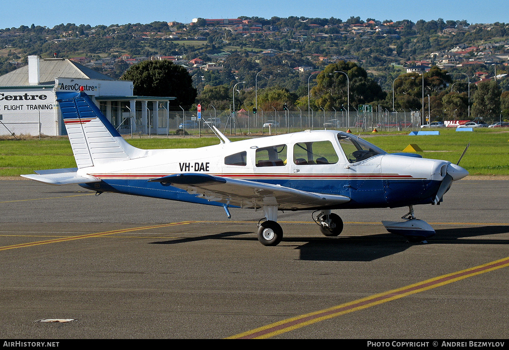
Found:
<path fill-rule="evenodd" d="M 505 234 L 509 232 L 507 225 L 486 225 L 477 227 L 455 227 L 437 229 L 436 235 L 427 244 L 509 244 L 507 239 L 479 238 L 481 236 Z M 469 237 L 475 237 L 469 239 Z M 171 241 L 152 242 L 152 244 L 182 244 L 203 240 L 242 240 L 257 242 L 256 235 L 249 231 L 229 231 L 220 234 L 206 235 L 192 238 L 182 238 Z M 305 242 L 302 244 L 302 242 Z M 295 249 L 300 250 L 300 260 L 314 261 L 373 261 L 385 256 L 400 253 L 414 245 L 425 243 L 409 243 L 404 238 L 390 234 L 374 234 L 365 236 L 339 237 L 287 237 L 278 247 L 280 249 L 295 243 Z"/>

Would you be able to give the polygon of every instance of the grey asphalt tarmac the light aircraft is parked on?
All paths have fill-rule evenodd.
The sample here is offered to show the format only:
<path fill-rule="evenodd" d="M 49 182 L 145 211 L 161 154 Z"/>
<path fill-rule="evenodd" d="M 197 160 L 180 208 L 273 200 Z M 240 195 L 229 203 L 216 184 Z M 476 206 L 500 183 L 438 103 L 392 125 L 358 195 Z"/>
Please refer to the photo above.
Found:
<path fill-rule="evenodd" d="M 415 207 L 427 244 L 384 229 L 397 208 L 335 211 L 337 238 L 279 213 L 265 247 L 263 212 L 0 181 L 0 338 L 504 339 L 508 194 L 467 178 Z"/>

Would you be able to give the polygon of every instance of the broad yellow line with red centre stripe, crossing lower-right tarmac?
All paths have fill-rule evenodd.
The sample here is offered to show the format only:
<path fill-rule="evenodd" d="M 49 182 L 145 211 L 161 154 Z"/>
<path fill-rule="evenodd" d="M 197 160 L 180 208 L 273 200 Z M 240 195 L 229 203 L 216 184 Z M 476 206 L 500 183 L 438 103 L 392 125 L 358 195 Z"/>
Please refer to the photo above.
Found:
<path fill-rule="evenodd" d="M 306 313 L 304 315 L 288 318 L 279 322 L 253 329 L 244 333 L 233 335 L 227 339 L 265 339 L 276 336 L 278 334 L 293 331 L 295 329 L 309 326 L 320 321 L 341 316 L 350 312 L 366 309 L 372 306 L 380 305 L 392 300 L 407 297 L 421 291 L 440 287 L 449 283 L 457 282 L 465 278 L 473 277 L 485 272 L 494 271 L 509 266 L 509 257 L 492 261 L 491 263 L 479 265 L 470 269 L 453 272 L 450 274 L 438 276 L 426 281 L 414 283 L 386 291 L 384 293 L 375 294 L 366 298 L 358 299 L 349 303 L 333 306 L 320 311 Z"/>

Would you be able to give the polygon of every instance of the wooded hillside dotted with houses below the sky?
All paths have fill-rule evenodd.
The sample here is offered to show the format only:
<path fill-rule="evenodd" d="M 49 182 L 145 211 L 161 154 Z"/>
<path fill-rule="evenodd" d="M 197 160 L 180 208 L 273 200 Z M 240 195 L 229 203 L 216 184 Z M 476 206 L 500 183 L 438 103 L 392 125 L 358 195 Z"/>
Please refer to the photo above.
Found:
<path fill-rule="evenodd" d="M 491 80 L 501 91 L 509 90 L 509 24 L 498 22 L 241 16 L 0 30 L 1 74 L 25 65 L 34 54 L 67 58 L 113 78 L 139 62 L 167 60 L 188 71 L 199 95 L 206 88 L 231 89 L 245 81 L 244 89 L 277 87 L 293 100 L 304 100 L 317 74 L 340 62 L 361 67 L 387 96 L 402 74 L 436 68 L 468 82 L 455 86 L 458 94 Z"/>

